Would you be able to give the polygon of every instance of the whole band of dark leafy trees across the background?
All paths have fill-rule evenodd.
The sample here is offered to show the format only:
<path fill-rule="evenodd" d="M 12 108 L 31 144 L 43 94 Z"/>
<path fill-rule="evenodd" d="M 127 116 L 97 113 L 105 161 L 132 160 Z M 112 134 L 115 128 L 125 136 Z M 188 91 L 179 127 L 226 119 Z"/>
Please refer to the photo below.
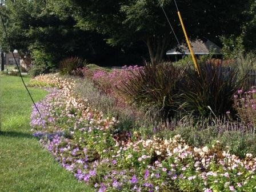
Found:
<path fill-rule="evenodd" d="M 177 4 L 190 39 L 208 38 L 220 44 L 221 36 L 242 35 L 247 49 L 255 49 L 255 1 L 177 0 Z M 173 0 L 7 0 L 1 10 L 11 48 L 22 53 L 43 47 L 56 61 L 78 56 L 100 62 L 111 55 L 115 63 L 120 55 L 138 60 L 147 51 L 151 62 L 158 63 L 177 45 L 161 6 L 183 42 Z M 2 30 L 0 43 L 7 47 Z"/>

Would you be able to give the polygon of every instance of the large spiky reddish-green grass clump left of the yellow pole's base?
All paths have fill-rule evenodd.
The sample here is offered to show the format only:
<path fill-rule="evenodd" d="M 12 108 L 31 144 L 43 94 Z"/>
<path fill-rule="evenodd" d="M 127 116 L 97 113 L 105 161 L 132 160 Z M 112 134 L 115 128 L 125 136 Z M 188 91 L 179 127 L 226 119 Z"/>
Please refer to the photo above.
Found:
<path fill-rule="evenodd" d="M 178 109 L 184 70 L 169 63 L 146 65 L 123 82 L 121 92 L 147 113 L 173 116 Z"/>

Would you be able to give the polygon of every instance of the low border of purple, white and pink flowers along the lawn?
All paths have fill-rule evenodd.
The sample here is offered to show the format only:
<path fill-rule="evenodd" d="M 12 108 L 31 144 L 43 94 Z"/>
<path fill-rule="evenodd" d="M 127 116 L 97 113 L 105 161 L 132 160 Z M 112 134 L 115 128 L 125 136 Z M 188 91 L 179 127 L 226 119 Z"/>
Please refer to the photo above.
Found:
<path fill-rule="evenodd" d="M 95 191 L 255 191 L 256 158 L 239 159 L 213 146 L 193 148 L 176 135 L 142 138 L 139 133 L 114 135 L 114 118 L 103 118 L 74 94 L 71 79 L 41 75 L 57 85 L 33 109 L 31 126 L 65 169 Z"/>

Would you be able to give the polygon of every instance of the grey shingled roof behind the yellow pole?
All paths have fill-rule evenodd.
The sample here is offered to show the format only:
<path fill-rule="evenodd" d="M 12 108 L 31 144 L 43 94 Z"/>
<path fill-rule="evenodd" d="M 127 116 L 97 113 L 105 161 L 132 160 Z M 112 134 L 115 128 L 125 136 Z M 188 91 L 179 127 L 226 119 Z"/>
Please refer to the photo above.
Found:
<path fill-rule="evenodd" d="M 221 48 L 215 43 L 211 42 L 209 39 L 198 39 L 194 42 L 190 42 L 190 44 L 195 55 L 221 55 Z M 181 55 L 182 51 L 184 51 L 185 54 L 190 54 L 189 48 L 182 44 L 180 49 L 178 46 L 174 47 L 173 49 L 167 51 L 166 55 Z"/>

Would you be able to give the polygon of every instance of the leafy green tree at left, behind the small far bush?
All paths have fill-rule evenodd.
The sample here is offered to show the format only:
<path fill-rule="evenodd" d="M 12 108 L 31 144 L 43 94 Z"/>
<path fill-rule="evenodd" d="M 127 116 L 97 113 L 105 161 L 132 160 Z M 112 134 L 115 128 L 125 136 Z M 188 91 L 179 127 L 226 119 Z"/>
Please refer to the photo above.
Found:
<path fill-rule="evenodd" d="M 5 16 L 5 25 L 11 47 L 7 45 L 4 31 L 0 31 L 0 45 L 7 50 L 18 49 L 21 55 L 34 50 L 43 50 L 51 55 L 53 63 L 65 57 L 78 56 L 88 61 L 99 61 L 95 50 L 105 49 L 109 53 L 101 34 L 75 27 L 73 17 L 59 17 L 48 6 L 50 1 L 7 0 L 0 7 Z M 1 24 L 2 27 L 2 24 Z M 2 28 L 1 28 L 2 29 Z"/>

